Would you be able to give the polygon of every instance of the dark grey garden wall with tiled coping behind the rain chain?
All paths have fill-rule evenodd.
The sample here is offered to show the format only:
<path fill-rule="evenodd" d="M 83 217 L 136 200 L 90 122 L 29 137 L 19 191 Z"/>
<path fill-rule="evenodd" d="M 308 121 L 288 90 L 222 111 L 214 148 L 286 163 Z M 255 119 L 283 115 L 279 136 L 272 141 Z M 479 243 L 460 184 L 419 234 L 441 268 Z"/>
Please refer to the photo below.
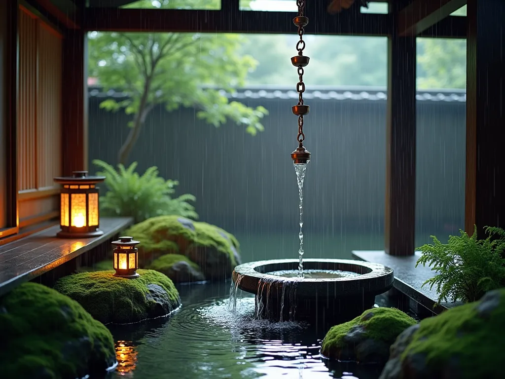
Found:
<path fill-rule="evenodd" d="M 220 128 L 194 109 L 154 109 L 130 161 L 156 165 L 197 198 L 201 220 L 233 231 L 278 232 L 297 227 L 298 192 L 289 153 L 296 148 L 296 93 L 277 88 L 240 90 L 236 99 L 266 107 L 265 131 Z M 131 119 L 99 108 L 108 97 L 90 88 L 89 158 L 117 162 Z M 321 88 L 306 92 L 306 147 L 313 154 L 305 181 L 305 226 L 340 233 L 380 233 L 385 201 L 385 92 L 377 88 Z M 465 93 L 419 92 L 417 102 L 417 225 L 429 234 L 463 227 Z M 90 162 L 90 171 L 95 168 Z M 450 229 L 450 230 L 449 230 Z"/>

